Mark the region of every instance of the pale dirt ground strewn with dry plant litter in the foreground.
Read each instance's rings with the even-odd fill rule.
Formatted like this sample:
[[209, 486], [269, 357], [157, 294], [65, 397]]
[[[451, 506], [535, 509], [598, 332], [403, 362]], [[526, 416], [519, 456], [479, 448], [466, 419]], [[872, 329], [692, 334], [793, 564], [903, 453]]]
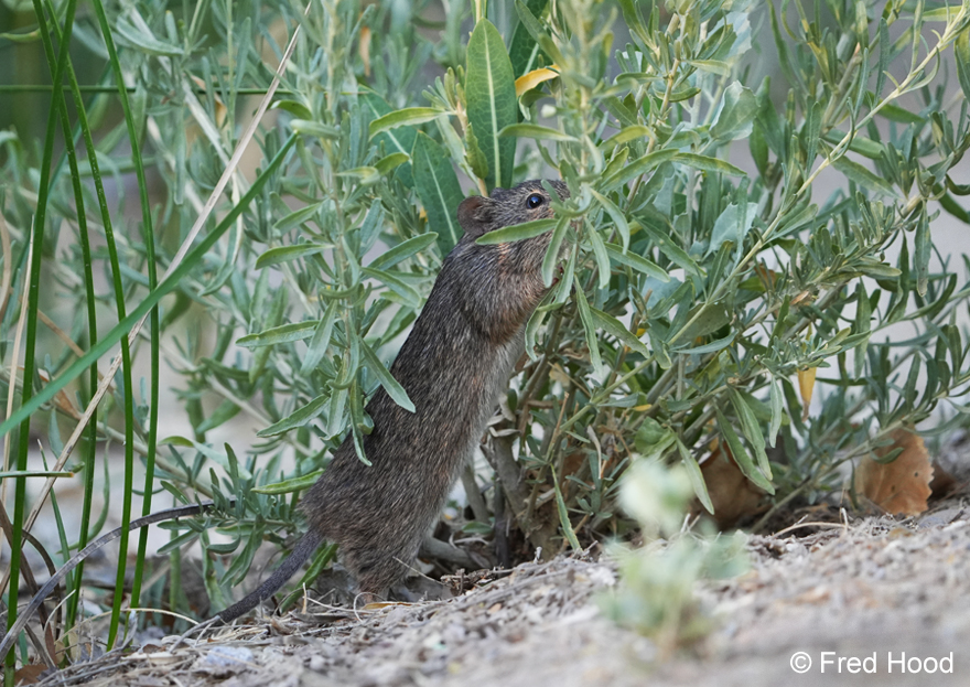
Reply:
[[747, 548], [747, 573], [698, 590], [714, 630], [672, 656], [601, 615], [596, 594], [619, 583], [602, 556], [526, 563], [448, 601], [356, 612], [308, 604], [202, 640], [151, 641], [44, 683], [970, 685], [970, 498], [918, 518], [753, 536]]

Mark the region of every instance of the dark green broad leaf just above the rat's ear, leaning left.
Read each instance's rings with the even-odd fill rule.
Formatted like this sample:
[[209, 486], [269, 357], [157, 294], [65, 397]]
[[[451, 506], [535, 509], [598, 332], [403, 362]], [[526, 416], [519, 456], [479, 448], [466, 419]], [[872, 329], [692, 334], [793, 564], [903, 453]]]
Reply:
[[459, 178], [444, 149], [423, 131], [414, 141], [411, 155], [412, 174], [418, 197], [428, 214], [428, 227], [438, 234], [441, 255], [448, 255], [462, 237], [456, 210], [464, 198]]

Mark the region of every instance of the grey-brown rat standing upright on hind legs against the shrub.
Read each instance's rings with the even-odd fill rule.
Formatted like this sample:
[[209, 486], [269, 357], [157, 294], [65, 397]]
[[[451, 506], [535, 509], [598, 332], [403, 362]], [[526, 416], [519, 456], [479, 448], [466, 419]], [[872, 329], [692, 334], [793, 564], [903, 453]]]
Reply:
[[[561, 198], [569, 191], [551, 181]], [[374, 431], [365, 465], [351, 437], [303, 498], [309, 530], [259, 589], [219, 618], [229, 622], [272, 595], [327, 539], [362, 592], [399, 582], [418, 555], [474, 451], [522, 353], [526, 322], [546, 294], [541, 266], [550, 235], [479, 246], [483, 234], [552, 216], [538, 180], [462, 201], [465, 234], [444, 259], [421, 315], [390, 368], [414, 404], [409, 412], [380, 388], [367, 404]]]

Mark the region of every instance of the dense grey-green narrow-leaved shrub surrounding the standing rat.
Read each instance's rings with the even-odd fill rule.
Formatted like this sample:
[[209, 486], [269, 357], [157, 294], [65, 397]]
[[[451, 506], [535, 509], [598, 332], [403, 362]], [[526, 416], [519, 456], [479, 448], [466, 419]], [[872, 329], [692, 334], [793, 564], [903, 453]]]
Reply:
[[[79, 529], [62, 528], [65, 556], [97, 534], [97, 448], [121, 440], [125, 522], [136, 476], [147, 494], [215, 500], [205, 523], [173, 526], [166, 551], [201, 540], [207, 589], [224, 602], [259, 544], [295, 530], [297, 494], [330, 452], [368, 431], [366, 399], [391, 384], [384, 365], [459, 237], [457, 202], [528, 178], [561, 176], [572, 191], [547, 229], [547, 283], [565, 246], [563, 275], [528, 325], [487, 465], [464, 477], [468, 529], [510, 523], [514, 559], [630, 527], [615, 487], [637, 457], [682, 463], [710, 509], [699, 459], [718, 440], [784, 504], [818, 498], [841, 463], [901, 427], [962, 422], [970, 372], [955, 318], [970, 290], [930, 226], [940, 208], [968, 221], [956, 196], [970, 189], [950, 175], [970, 147], [967, 105], [941, 76], [955, 71], [970, 93], [966, 2], [828, 0], [809, 12], [621, 0], [622, 17], [599, 0], [323, 0], [306, 14], [147, 0], [107, 12], [95, 2], [76, 19], [74, 8], [45, 6], [36, 33], [14, 36], [40, 39], [51, 72], [68, 77], [52, 79], [42, 149], [0, 135], [12, 287], [0, 328], [4, 342], [20, 340], [21, 319], [26, 332], [23, 375], [8, 344], [4, 380], [30, 380], [2, 426], [20, 427], [8, 434], [15, 469], [29, 468], [29, 417], [67, 458], [60, 427], [97, 386], [94, 363], [159, 309], [150, 334], [125, 344], [71, 459], [87, 500]], [[290, 55], [281, 36], [298, 26]], [[85, 100], [79, 61], [57, 62], [62, 32], [105, 64], [98, 83], [115, 93]], [[774, 85], [756, 77], [770, 45]], [[235, 168], [281, 60], [262, 158]], [[55, 139], [66, 146], [56, 163]], [[190, 227], [208, 217], [227, 168], [197, 238]], [[125, 192], [132, 170], [137, 202]], [[834, 191], [822, 200], [823, 180]], [[184, 260], [179, 246], [192, 247]], [[84, 356], [39, 339], [39, 312], [55, 301], [72, 305], [58, 331]], [[120, 324], [105, 333], [105, 320]], [[907, 339], [892, 340], [899, 323]], [[132, 355], [153, 371], [140, 386]], [[193, 436], [169, 437], [159, 419], [166, 367]], [[941, 400], [957, 412], [934, 415]], [[261, 441], [214, 444], [240, 415]], [[25, 480], [12, 507], [14, 598]], [[212, 525], [233, 541], [212, 544]], [[142, 540], [132, 605], [143, 554]]]

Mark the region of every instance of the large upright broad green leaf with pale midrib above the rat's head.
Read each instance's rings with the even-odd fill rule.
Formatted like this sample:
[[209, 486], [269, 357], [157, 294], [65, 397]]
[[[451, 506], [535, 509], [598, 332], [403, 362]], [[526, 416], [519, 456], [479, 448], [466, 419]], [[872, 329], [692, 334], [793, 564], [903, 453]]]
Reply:
[[518, 121], [515, 74], [502, 35], [487, 19], [481, 20], [472, 32], [465, 73], [468, 121], [475, 127], [475, 137], [488, 162], [485, 184], [489, 191], [509, 186], [516, 142], [513, 138], [499, 138], [498, 133]]

